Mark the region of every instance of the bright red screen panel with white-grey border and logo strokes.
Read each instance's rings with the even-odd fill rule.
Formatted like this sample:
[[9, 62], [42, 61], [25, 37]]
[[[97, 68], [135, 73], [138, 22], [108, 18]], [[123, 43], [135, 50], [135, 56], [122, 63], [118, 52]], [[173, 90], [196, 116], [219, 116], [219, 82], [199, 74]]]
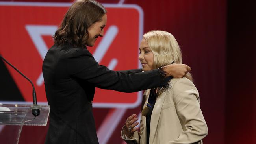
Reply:
[[[70, 4], [1, 3], [0, 53], [35, 84], [37, 100], [46, 102], [42, 63]], [[138, 45], [143, 32], [143, 11], [137, 5], [106, 4], [108, 22], [104, 37], [88, 47], [96, 61], [112, 70], [137, 69]], [[117, 18], [118, 17], [118, 18]], [[15, 70], [8, 70], [26, 101], [32, 101], [32, 87]], [[136, 107], [141, 92], [122, 93], [96, 89], [95, 107]]]

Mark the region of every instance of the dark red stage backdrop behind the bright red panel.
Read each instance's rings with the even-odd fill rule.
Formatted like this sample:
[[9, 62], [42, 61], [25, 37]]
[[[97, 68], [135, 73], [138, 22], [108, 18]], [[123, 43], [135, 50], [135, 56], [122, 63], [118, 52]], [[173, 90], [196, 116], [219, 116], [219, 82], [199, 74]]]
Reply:
[[[99, 2], [117, 4], [119, 0]], [[192, 67], [200, 92], [201, 109], [209, 130], [204, 143], [256, 143], [256, 18], [253, 16], [256, 5], [225, 0], [124, 0], [124, 4], [137, 4], [142, 8], [144, 32], [165, 30], [176, 37], [183, 62]], [[139, 113], [139, 109], [139, 106], [94, 108], [100, 142], [121, 144], [122, 125], [130, 114]], [[116, 121], [110, 125], [113, 116], [117, 116], [113, 119]], [[106, 129], [111, 132], [108, 137], [102, 135]], [[47, 127], [42, 126], [25, 126], [20, 143], [29, 144], [33, 139], [43, 144], [46, 130]]]

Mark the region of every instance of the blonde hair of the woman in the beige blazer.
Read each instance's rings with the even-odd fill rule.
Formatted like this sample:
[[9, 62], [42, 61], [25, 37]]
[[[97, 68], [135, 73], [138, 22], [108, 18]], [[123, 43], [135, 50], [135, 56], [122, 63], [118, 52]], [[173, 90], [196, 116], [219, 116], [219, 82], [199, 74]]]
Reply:
[[[146, 40], [154, 55], [153, 69], [171, 63], [182, 63], [182, 52], [175, 37], [167, 31], [153, 30], [145, 33], [143, 39]], [[193, 81], [190, 73], [186, 78]]]

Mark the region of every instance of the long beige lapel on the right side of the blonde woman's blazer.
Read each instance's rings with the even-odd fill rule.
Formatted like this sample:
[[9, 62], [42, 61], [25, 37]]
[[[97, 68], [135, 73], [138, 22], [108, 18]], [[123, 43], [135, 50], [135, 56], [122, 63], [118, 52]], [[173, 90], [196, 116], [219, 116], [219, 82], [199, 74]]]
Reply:
[[151, 115], [151, 122], [150, 122], [150, 136], [149, 136], [149, 143], [152, 144], [153, 140], [156, 137], [156, 129], [158, 126], [158, 120], [160, 118], [161, 109], [163, 106], [163, 102], [165, 101], [166, 93], [163, 92], [160, 96], [156, 98], [156, 103], [154, 105], [152, 115]]

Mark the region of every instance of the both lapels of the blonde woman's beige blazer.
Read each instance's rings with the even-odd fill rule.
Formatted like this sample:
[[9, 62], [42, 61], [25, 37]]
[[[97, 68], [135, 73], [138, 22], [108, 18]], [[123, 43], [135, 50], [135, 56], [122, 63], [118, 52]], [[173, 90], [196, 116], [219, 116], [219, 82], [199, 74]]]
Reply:
[[[148, 102], [148, 97], [150, 94], [150, 90], [148, 89], [145, 91], [145, 103], [144, 106], [146, 106], [147, 102]], [[168, 90], [167, 90], [168, 91]], [[154, 137], [156, 136], [156, 129], [158, 126], [158, 120], [160, 118], [160, 113], [161, 113], [161, 109], [163, 107], [163, 102], [165, 101], [165, 97], [167, 95], [167, 91], [163, 92], [160, 96], [156, 97], [156, 103], [154, 105], [153, 111], [152, 111], [152, 115], [151, 115], [151, 122], [150, 122], [150, 139], [149, 139], [149, 143], [152, 144]], [[142, 121], [146, 122], [146, 116], [141, 116]], [[144, 125], [146, 127], [146, 125]], [[144, 128], [143, 131], [145, 131], [146, 129]], [[146, 133], [146, 131], [144, 132]]]

